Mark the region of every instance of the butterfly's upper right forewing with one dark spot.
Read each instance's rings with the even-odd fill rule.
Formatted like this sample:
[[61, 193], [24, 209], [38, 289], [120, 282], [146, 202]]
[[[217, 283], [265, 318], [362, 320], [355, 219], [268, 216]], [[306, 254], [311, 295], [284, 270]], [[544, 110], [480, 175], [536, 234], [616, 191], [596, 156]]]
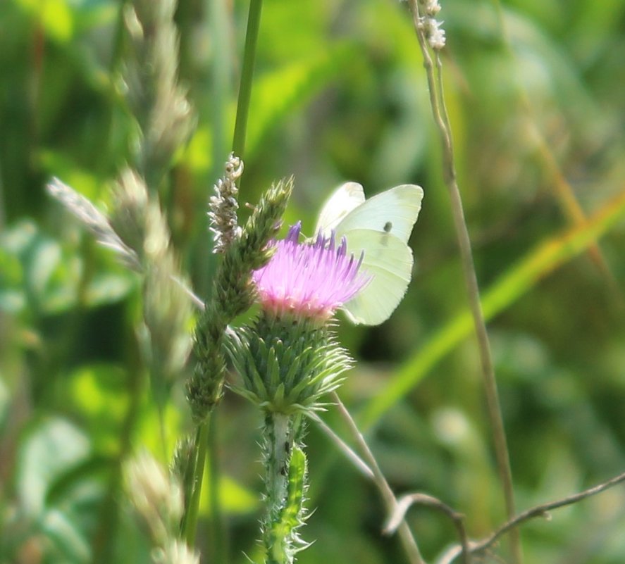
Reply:
[[[332, 202], [335, 196], [336, 194], [328, 203]], [[402, 184], [381, 192], [352, 208], [337, 225], [326, 227], [324, 223], [321, 223], [321, 219], [319, 223], [323, 225], [324, 230], [335, 228], [337, 237], [347, 235], [349, 239], [349, 232], [354, 230], [374, 230], [379, 233], [392, 234], [406, 244], [421, 211], [422, 199], [423, 189], [420, 186]]]

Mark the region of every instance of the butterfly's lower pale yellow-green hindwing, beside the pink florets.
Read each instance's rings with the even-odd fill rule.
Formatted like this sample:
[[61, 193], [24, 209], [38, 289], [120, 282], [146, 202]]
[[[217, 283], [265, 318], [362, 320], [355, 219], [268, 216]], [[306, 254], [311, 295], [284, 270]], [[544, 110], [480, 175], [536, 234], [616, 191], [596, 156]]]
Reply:
[[379, 325], [390, 317], [406, 293], [412, 275], [412, 251], [389, 233], [350, 231], [347, 251], [359, 256], [362, 250], [362, 269], [371, 275], [371, 282], [343, 309], [354, 323]]

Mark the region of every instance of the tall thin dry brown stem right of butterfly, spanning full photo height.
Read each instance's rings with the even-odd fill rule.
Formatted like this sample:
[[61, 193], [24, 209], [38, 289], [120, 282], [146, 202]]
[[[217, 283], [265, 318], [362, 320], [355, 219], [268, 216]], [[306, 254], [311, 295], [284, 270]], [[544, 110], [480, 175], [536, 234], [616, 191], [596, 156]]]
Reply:
[[[460, 190], [457, 182], [456, 168], [454, 164], [454, 146], [452, 142], [449, 118], [447, 117], [447, 108], [445, 107], [445, 95], [441, 73], [442, 64], [440, 56], [437, 52], [435, 55], [435, 77], [432, 57], [428, 49], [423, 27], [421, 25], [419, 0], [409, 0], [409, 6], [413, 16], [416, 37], [419, 41], [419, 47], [421, 48], [421, 52], [423, 54], [423, 66], [426, 69], [426, 75], [428, 77], [432, 113], [436, 127], [438, 128], [438, 132], [440, 134], [440, 141], [443, 146], [443, 177], [450, 193], [454, 227], [456, 230], [462, 260], [462, 272], [464, 274], [466, 291], [469, 296], [469, 306], [471, 308], [471, 315], [473, 316], [476, 337], [478, 339], [486, 401], [488, 403], [488, 418], [490, 419], [490, 425], [493, 430], [497, 470], [499, 472], [504, 490], [506, 513], [508, 518], [512, 518], [515, 513], [512, 470], [510, 469], [507, 440], [499, 402], [499, 395], [497, 394], [497, 382], [495, 381], [493, 357], [490, 352], [490, 342], [488, 340], [488, 332], [486, 331], [484, 315], [480, 302], [480, 292], [473, 261], [473, 253], [471, 251], [471, 239], [469, 238], [469, 231], [467, 230], [466, 221], [464, 220], [462, 198], [460, 196]], [[510, 546], [512, 549], [513, 562], [521, 564], [521, 541], [519, 531], [516, 529], [512, 529], [510, 531]]]

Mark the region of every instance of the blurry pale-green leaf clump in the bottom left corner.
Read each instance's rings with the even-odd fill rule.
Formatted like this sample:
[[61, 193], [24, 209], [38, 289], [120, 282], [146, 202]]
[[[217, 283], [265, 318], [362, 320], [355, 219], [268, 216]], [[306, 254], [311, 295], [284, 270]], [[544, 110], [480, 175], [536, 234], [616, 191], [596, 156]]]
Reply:
[[88, 532], [102, 495], [89, 449], [87, 435], [67, 420], [30, 422], [16, 452], [20, 510], [4, 524], [3, 559], [18, 560], [23, 543], [32, 539], [47, 562], [89, 561]]

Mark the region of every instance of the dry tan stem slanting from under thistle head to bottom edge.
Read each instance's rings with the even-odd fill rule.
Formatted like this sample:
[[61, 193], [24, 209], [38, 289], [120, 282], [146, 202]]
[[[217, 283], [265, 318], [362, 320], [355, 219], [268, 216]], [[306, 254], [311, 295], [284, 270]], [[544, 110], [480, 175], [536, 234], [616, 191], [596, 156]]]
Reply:
[[[369, 449], [369, 445], [366, 444], [366, 441], [357, 427], [354, 418], [352, 418], [352, 415], [349, 411], [347, 411], [345, 404], [341, 401], [339, 395], [335, 391], [332, 392], [332, 400], [336, 404], [341, 417], [347, 423], [349, 431], [352, 433], [354, 440], [357, 442], [366, 462], [369, 464], [369, 468], [371, 468], [371, 471], [373, 472], [372, 480], [378, 487], [378, 490], [380, 490], [380, 494], [388, 514], [392, 515], [395, 513], [395, 508], [397, 507], [397, 499], [395, 499], [395, 494], [393, 494], [392, 489], [390, 489], [390, 486], [382, 473], [382, 470], [380, 470], [376, 457], [373, 456], [373, 453], [371, 452], [371, 449]], [[410, 527], [408, 527], [405, 520], [402, 520], [401, 525], [397, 527], [397, 531], [399, 532], [400, 541], [402, 541], [402, 546], [404, 547], [404, 551], [406, 551], [409, 562], [411, 564], [424, 564], [425, 561], [423, 560], [423, 556], [421, 556], [419, 546], [417, 546], [416, 541], [412, 536]]]

